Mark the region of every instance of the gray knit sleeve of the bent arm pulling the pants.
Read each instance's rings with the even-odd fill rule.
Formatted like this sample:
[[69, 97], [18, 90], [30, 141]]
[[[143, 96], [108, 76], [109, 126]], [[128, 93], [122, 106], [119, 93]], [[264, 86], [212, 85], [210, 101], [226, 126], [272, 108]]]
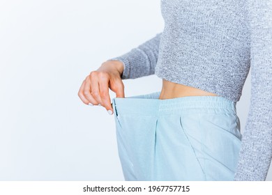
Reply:
[[121, 79], [135, 79], [155, 73], [161, 34], [157, 33], [151, 40], [147, 40], [122, 56], [109, 59], [123, 63], [124, 69]]

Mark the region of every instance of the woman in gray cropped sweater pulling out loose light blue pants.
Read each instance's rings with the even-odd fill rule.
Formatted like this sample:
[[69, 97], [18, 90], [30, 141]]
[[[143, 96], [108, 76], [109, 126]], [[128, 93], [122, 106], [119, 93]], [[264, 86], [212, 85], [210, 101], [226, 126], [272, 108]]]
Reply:
[[[126, 180], [265, 180], [272, 156], [271, 1], [162, 0], [161, 9], [163, 32], [103, 63], [78, 94], [114, 113]], [[241, 142], [236, 102], [250, 67]], [[154, 73], [162, 91], [125, 98], [121, 79]]]

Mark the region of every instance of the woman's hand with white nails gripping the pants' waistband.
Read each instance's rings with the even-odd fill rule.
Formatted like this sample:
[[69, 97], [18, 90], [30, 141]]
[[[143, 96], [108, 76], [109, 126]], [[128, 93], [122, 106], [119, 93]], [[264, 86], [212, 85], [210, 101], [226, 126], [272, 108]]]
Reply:
[[113, 109], [109, 97], [109, 88], [116, 93], [116, 98], [125, 98], [124, 85], [121, 79], [123, 63], [106, 61], [83, 81], [78, 96], [84, 104], [101, 105], [112, 115]]

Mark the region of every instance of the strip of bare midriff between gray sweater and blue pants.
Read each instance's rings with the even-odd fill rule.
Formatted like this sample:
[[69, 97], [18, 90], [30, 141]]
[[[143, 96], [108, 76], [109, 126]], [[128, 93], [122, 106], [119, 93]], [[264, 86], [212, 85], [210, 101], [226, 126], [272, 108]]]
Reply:
[[160, 92], [160, 97], [158, 99], [165, 100], [172, 98], [181, 98], [186, 96], [203, 96], [203, 95], [217, 96], [215, 93], [203, 91], [199, 88], [194, 88], [191, 86], [176, 84], [171, 81], [163, 79], [163, 88], [162, 91]]

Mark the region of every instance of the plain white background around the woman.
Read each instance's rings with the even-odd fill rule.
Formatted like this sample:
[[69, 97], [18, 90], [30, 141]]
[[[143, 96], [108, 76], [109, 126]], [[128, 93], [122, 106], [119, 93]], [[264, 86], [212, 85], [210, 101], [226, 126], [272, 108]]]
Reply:
[[[0, 180], [123, 180], [114, 116], [77, 92], [103, 61], [162, 30], [159, 0], [1, 0]], [[130, 96], [162, 81], [123, 82]], [[242, 132], [249, 101], [250, 75], [237, 104]]]

